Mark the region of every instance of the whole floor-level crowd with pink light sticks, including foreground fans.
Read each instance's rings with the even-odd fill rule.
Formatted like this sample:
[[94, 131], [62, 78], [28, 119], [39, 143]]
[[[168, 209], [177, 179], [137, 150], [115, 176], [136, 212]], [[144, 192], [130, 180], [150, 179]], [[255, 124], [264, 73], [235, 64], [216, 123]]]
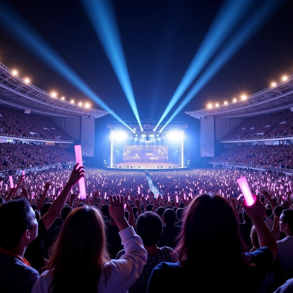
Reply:
[[[149, 192], [149, 176], [161, 196]], [[241, 176], [258, 194], [252, 206]], [[291, 178], [76, 165], [13, 180], [0, 197], [2, 292], [292, 292]]]

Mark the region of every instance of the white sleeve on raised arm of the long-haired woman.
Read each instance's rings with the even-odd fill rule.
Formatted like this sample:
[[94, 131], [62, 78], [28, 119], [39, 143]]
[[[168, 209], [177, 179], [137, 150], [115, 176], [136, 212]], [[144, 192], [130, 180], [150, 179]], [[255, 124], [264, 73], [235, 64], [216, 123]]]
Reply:
[[142, 273], [142, 269], [147, 263], [147, 251], [133, 227], [123, 229], [119, 235], [125, 254], [119, 260], [110, 260], [107, 265], [116, 272], [122, 288], [126, 292]]

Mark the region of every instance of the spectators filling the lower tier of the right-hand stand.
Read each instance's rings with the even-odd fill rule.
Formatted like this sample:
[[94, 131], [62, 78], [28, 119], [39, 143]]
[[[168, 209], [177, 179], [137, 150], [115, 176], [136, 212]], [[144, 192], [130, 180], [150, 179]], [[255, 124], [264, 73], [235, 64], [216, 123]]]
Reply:
[[212, 161], [292, 169], [292, 151], [293, 144], [241, 146], [229, 149]]

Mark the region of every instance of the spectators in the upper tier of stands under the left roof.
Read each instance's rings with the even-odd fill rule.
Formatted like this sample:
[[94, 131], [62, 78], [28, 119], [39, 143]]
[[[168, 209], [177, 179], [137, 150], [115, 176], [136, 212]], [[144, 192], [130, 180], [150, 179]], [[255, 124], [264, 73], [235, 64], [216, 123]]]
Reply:
[[0, 107], [0, 133], [53, 140], [74, 140], [52, 119]]

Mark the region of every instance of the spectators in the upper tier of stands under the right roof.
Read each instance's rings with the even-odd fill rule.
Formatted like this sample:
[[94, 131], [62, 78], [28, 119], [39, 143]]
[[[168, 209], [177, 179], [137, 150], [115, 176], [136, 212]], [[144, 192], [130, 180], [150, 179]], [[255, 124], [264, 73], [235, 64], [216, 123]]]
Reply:
[[244, 139], [293, 135], [293, 114], [277, 112], [244, 119], [222, 139]]

